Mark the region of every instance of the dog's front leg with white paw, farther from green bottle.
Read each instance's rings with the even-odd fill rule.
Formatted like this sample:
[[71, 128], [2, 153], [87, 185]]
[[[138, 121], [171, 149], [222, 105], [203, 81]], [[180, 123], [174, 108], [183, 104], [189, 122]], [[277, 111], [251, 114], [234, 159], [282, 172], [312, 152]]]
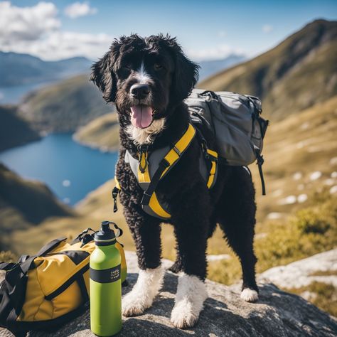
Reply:
[[187, 328], [198, 321], [203, 302], [208, 296], [204, 279], [210, 210], [207, 190], [200, 191], [200, 194], [198, 191], [188, 191], [179, 197], [181, 201], [175, 201], [179, 205], [176, 204], [171, 213], [182, 272], [178, 277], [171, 322], [177, 328]]

